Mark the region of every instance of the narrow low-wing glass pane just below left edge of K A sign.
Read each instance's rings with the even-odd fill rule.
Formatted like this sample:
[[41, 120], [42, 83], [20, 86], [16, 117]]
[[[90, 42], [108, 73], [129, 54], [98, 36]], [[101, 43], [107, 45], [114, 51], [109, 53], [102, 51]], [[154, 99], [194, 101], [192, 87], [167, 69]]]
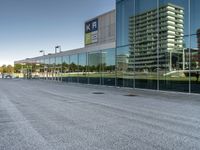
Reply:
[[88, 84], [87, 76], [87, 53], [78, 54], [78, 73], [79, 73], [79, 83]]

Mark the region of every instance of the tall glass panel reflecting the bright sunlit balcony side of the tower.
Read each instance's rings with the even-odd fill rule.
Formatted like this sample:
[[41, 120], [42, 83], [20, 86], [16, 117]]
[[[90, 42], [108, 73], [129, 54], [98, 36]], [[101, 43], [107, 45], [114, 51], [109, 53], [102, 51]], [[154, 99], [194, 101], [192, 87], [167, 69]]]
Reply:
[[159, 89], [189, 92], [189, 0], [159, 0]]

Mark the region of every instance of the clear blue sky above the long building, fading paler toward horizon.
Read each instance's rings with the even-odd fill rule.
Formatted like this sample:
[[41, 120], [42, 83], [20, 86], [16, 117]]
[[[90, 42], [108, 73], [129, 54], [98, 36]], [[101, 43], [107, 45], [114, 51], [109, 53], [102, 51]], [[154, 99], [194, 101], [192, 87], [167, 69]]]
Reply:
[[0, 0], [0, 65], [84, 46], [84, 22], [115, 0]]

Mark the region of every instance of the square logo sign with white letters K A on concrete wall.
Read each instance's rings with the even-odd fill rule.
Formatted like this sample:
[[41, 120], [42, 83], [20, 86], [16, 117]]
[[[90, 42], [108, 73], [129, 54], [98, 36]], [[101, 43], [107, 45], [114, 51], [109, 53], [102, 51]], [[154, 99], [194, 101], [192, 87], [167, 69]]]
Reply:
[[98, 42], [98, 19], [85, 23], [85, 45]]

